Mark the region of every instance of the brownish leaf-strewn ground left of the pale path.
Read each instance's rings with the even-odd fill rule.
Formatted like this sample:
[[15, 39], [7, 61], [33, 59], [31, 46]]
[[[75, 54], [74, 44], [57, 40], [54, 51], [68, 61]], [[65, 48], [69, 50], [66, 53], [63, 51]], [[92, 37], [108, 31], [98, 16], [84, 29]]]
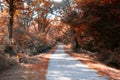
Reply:
[[56, 48], [36, 56], [25, 56], [26, 62], [18, 63], [0, 74], [0, 80], [45, 80], [49, 57]]

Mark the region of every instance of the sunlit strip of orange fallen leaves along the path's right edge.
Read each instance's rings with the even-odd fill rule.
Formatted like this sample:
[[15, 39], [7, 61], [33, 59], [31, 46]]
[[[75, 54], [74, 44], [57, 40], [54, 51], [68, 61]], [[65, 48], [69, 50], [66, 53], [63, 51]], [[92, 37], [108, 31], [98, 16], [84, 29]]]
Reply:
[[101, 76], [107, 75], [110, 80], [120, 80], [120, 70], [113, 67], [106, 66], [105, 64], [96, 61], [93, 57], [88, 54], [74, 53], [70, 50], [70, 45], [64, 47], [65, 51], [72, 57], [80, 60], [84, 64], [87, 64], [90, 68], [95, 69]]

